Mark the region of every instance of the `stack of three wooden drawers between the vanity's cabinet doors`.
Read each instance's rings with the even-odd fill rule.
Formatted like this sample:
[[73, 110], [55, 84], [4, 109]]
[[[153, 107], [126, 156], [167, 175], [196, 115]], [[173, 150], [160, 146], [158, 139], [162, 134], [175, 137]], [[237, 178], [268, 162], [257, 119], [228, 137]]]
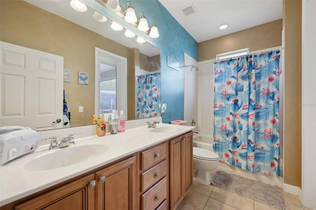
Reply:
[[168, 144], [138, 152], [139, 210], [167, 208]]

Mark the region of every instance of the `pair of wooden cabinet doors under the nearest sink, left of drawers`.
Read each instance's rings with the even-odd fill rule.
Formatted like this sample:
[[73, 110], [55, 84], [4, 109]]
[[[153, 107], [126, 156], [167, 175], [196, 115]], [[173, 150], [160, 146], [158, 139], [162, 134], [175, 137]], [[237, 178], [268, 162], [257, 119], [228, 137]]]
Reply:
[[136, 156], [132, 156], [30, 199], [15, 210], [136, 210], [136, 172]]

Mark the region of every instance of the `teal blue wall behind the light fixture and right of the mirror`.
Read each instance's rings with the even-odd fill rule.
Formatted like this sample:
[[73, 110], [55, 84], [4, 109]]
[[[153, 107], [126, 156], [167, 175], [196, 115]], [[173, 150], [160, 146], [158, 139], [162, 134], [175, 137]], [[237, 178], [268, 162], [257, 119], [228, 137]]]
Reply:
[[[134, 26], [126, 23], [117, 14], [108, 11], [94, 0], [81, 0], [91, 8], [98, 10], [112, 20], [117, 21], [124, 28], [157, 46], [161, 50], [161, 104], [167, 104], [162, 122], [184, 118], [184, 53], [197, 60], [197, 41], [174, 19], [158, 0], [130, 0], [136, 16], [144, 12], [148, 23], [154, 21], [158, 31], [158, 38], [151, 38]], [[125, 8], [127, 0], [119, 0]], [[167, 66], [167, 56], [174, 53], [180, 62], [180, 69], [174, 70]]]

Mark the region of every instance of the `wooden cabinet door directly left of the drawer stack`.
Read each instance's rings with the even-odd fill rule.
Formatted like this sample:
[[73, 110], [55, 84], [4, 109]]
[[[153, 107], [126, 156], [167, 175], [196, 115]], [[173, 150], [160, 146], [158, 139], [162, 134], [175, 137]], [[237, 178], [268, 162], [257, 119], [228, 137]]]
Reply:
[[136, 157], [95, 173], [98, 210], [136, 210]]

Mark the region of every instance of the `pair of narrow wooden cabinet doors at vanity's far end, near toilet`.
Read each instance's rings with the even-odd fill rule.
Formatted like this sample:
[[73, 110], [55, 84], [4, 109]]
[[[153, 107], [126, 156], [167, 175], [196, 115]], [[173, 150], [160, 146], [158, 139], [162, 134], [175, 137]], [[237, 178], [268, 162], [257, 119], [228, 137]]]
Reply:
[[175, 209], [193, 184], [192, 132], [170, 140], [170, 209]]

